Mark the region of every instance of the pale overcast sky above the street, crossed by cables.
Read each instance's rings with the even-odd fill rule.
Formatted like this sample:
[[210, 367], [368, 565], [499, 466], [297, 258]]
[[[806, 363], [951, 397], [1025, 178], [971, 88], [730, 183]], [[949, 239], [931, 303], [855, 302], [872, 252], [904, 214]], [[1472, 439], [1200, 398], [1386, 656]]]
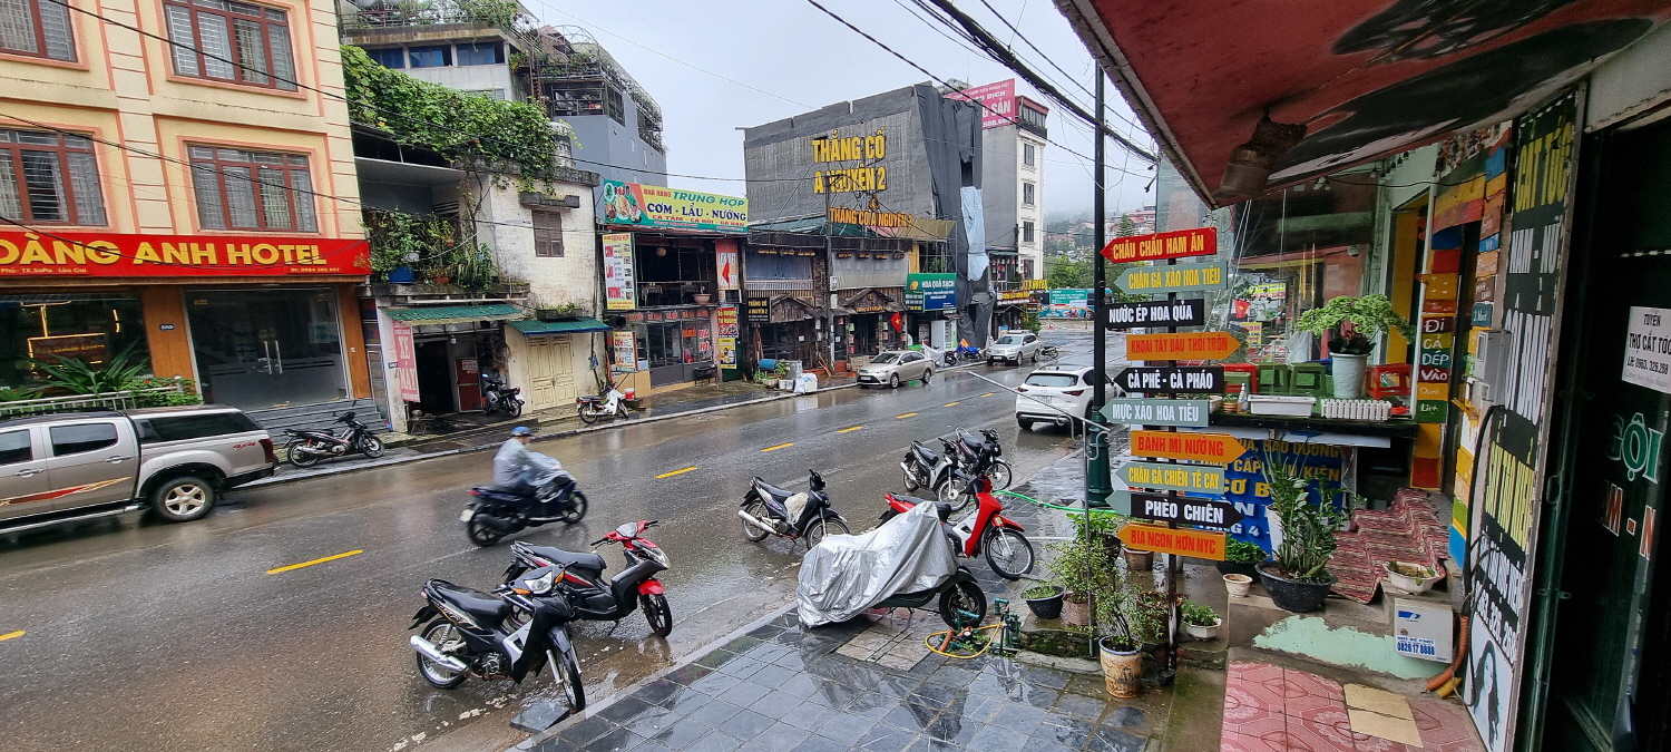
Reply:
[[[927, 13], [912, 0], [820, 2], [941, 79], [962, 79], [973, 85], [1018, 79], [1018, 92], [1051, 107], [1048, 125], [1054, 144], [1044, 150], [1044, 211], [1089, 212], [1089, 125], [1039, 97], [1033, 87], [966, 42], [949, 38], [951, 32], [937, 23], [931, 25]], [[1095, 80], [1091, 57], [1051, 0], [984, 0], [1003, 13], [1003, 20], [983, 0], [956, 2], [1001, 42], [1011, 43], [1023, 60], [1051, 79], [1059, 90], [1086, 110], [1091, 109], [1093, 97], [1086, 94], [1093, 90]], [[578, 25], [592, 32], [655, 97], [665, 117], [668, 172], [735, 179], [668, 177], [675, 187], [742, 196], [739, 127], [926, 82], [921, 72], [805, 0], [523, 0], [523, 5], [543, 23]], [[1014, 37], [1004, 20], [1019, 28], [1024, 38]], [[1058, 72], [1026, 40], [1071, 75]], [[1110, 122], [1128, 134], [1138, 132], [1120, 120], [1125, 117], [1136, 122], [1136, 117], [1113, 85], [1108, 87], [1108, 100]], [[1146, 135], [1135, 140], [1153, 147]], [[1108, 144], [1108, 211], [1153, 204], [1153, 189], [1145, 192], [1153, 175], [1148, 165], [1128, 157], [1113, 142]], [[1121, 167], [1130, 174], [1120, 172]]]

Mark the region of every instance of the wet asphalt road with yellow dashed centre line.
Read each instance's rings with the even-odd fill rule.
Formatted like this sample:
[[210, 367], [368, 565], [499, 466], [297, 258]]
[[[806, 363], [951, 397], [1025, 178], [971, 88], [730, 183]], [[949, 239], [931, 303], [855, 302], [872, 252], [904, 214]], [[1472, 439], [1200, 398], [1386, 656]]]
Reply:
[[[1083, 333], [1046, 339], [1064, 344], [1064, 364], [1088, 359]], [[670, 640], [650, 638], [637, 613], [578, 630], [588, 695], [603, 699], [792, 595], [799, 545], [740, 535], [735, 510], [750, 476], [805, 488], [807, 468], [817, 468], [834, 506], [862, 531], [881, 513], [881, 495], [901, 490], [897, 463], [911, 440], [996, 428], [1018, 480], [1068, 453], [1059, 428], [1018, 434], [1014, 398], [973, 376], [1013, 386], [1028, 371], [974, 366], [926, 388], [841, 389], [536, 443], [575, 473], [592, 510], [571, 528], [518, 538], [585, 550], [622, 521], [660, 520], [652, 538], [673, 563], [662, 575]], [[683, 468], [693, 470], [667, 475]], [[458, 523], [461, 491], [490, 478], [491, 455], [475, 453], [234, 491], [190, 525], [124, 515], [0, 535], [0, 635], [25, 632], [0, 642], [0, 747], [515, 742], [505, 722], [530, 695], [550, 692], [548, 675], [443, 692], [418, 677], [406, 647], [426, 578], [500, 582], [505, 545], [476, 548]], [[348, 551], [361, 553], [269, 573]], [[602, 553], [620, 568], [617, 550]]]

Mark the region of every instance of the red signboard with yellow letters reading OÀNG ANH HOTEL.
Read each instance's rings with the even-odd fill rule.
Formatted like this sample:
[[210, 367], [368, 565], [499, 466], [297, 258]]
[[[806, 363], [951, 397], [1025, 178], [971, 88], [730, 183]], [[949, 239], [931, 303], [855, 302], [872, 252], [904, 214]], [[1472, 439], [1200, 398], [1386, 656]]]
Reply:
[[247, 277], [371, 274], [359, 239], [0, 232], [0, 277]]

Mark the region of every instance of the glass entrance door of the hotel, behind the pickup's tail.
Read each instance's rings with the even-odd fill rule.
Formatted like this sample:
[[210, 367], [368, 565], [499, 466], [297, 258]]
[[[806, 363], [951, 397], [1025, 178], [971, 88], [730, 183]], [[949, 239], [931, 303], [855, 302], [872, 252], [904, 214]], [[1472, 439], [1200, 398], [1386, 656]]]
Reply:
[[204, 401], [266, 409], [348, 396], [334, 289], [187, 291], [185, 312]]

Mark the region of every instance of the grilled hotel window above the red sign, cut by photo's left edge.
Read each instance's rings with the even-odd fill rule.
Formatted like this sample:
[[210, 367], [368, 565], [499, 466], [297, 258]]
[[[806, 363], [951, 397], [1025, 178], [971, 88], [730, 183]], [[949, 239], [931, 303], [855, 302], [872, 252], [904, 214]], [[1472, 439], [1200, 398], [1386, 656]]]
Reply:
[[69, 134], [0, 130], [0, 217], [105, 224], [94, 142]]

